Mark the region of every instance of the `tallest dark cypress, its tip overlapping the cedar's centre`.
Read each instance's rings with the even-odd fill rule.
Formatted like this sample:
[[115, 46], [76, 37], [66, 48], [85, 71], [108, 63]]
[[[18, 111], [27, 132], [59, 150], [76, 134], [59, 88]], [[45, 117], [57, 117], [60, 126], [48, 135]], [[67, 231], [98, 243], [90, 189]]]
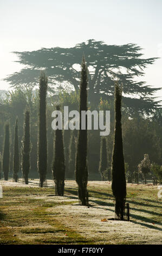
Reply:
[[87, 116], [86, 129], [81, 130], [81, 111], [87, 111], [87, 84], [88, 70], [85, 64], [85, 57], [81, 64], [81, 82], [80, 82], [80, 130], [77, 137], [75, 179], [78, 185], [78, 197], [82, 205], [88, 204], [87, 182], [88, 182], [88, 165], [87, 165]]

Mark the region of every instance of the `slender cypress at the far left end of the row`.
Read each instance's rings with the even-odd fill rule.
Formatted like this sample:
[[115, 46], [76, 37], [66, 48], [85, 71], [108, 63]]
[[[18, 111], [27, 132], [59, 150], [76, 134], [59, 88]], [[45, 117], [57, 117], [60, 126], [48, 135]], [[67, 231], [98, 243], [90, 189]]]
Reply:
[[10, 166], [10, 125], [9, 123], [4, 126], [4, 147], [3, 147], [3, 160], [2, 160], [2, 170], [4, 174], [4, 180], [9, 178], [9, 166]]

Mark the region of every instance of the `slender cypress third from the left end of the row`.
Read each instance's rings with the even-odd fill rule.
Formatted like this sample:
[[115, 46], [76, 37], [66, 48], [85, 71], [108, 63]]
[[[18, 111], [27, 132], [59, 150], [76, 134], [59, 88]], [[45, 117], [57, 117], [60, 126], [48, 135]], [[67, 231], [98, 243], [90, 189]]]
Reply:
[[25, 111], [24, 120], [24, 136], [23, 136], [23, 146], [22, 146], [22, 174], [25, 180], [25, 184], [28, 184], [28, 175], [30, 170], [30, 112]]

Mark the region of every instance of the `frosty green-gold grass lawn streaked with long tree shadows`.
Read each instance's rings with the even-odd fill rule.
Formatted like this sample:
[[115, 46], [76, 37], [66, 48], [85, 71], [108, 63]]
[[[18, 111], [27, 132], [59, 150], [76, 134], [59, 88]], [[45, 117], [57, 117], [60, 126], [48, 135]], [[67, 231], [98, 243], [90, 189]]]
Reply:
[[[113, 221], [111, 183], [89, 181], [89, 206], [77, 200], [75, 181], [66, 181], [63, 197], [54, 182], [38, 187], [1, 180], [0, 244], [161, 244], [161, 198], [157, 186], [127, 184], [131, 221]], [[102, 221], [106, 219], [105, 221]]]

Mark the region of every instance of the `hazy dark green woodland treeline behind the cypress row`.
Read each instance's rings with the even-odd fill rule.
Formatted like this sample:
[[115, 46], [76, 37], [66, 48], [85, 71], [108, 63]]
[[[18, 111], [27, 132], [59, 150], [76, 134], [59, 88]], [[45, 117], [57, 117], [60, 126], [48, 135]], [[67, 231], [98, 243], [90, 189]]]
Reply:
[[[14, 156], [14, 131], [15, 120], [18, 117], [18, 148], [22, 149], [23, 145], [23, 124], [25, 109], [30, 110], [30, 173], [29, 178], [38, 178], [37, 172], [37, 150], [38, 150], [38, 108], [39, 97], [38, 91], [32, 89], [15, 89], [13, 91], [0, 94], [0, 158], [3, 152], [4, 142], [4, 124], [10, 122], [10, 173], [13, 176], [13, 156]], [[79, 94], [77, 92], [67, 92], [61, 89], [58, 94], [52, 96], [47, 95], [47, 178], [52, 177], [52, 163], [54, 156], [54, 131], [51, 128], [51, 113], [55, 110], [55, 105], [60, 104], [62, 111], [63, 106], [69, 106], [69, 111], [79, 110]], [[114, 102], [112, 100], [102, 100], [100, 102], [88, 102], [88, 109], [94, 110], [110, 110], [111, 111], [111, 132], [106, 136], [107, 166], [104, 179], [111, 179], [111, 159], [113, 150], [113, 130], [114, 130]], [[135, 180], [138, 172], [138, 164], [144, 159], [144, 154], [148, 154], [151, 163], [162, 165], [162, 111], [157, 108], [152, 115], [141, 115], [132, 112], [122, 103], [122, 135], [124, 142], [124, 157], [127, 164], [126, 175], [131, 177], [131, 181]], [[76, 153], [76, 136], [77, 131], [63, 131], [64, 155], [66, 165], [66, 178], [74, 179], [75, 153]], [[89, 179], [101, 179], [99, 172], [100, 162], [100, 131], [88, 131], [88, 169]], [[102, 145], [102, 143], [101, 143]], [[101, 150], [102, 151], [102, 150]], [[105, 151], [105, 150], [103, 150]], [[22, 151], [20, 150], [20, 153]], [[1, 161], [0, 161], [1, 162]], [[20, 170], [22, 155], [20, 154]], [[0, 163], [1, 164], [1, 163]], [[1, 166], [0, 166], [1, 167]], [[148, 178], [152, 178], [153, 173], [149, 172]], [[21, 175], [19, 175], [21, 176]], [[140, 178], [140, 173], [139, 173]], [[142, 176], [141, 176], [142, 178]], [[102, 177], [103, 179], [103, 177]]]

